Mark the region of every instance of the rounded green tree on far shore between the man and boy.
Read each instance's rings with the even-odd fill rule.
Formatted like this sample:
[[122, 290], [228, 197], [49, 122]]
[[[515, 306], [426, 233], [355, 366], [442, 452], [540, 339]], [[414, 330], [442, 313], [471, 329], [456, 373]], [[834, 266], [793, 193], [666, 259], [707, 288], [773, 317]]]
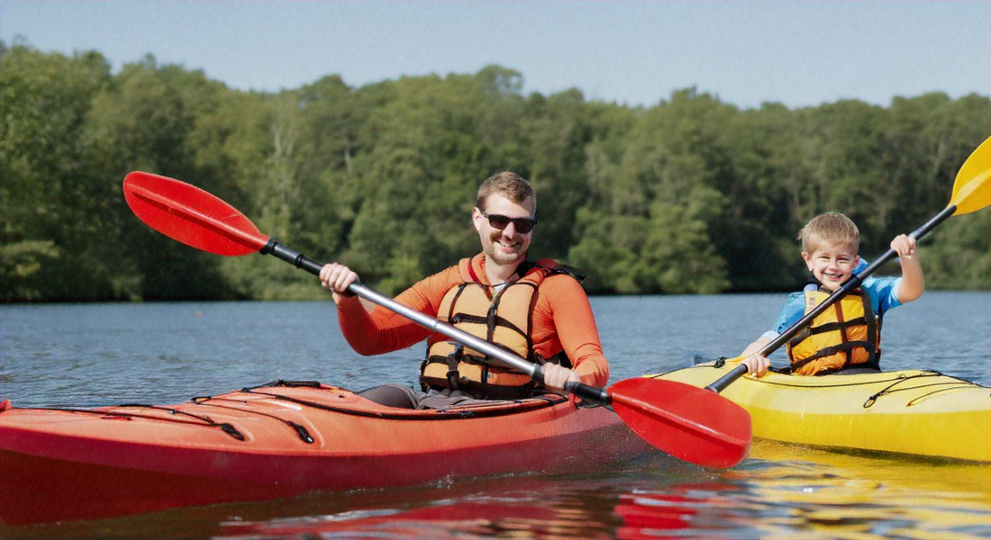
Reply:
[[[708, 94], [685, 90], [637, 120], [620, 161], [606, 166], [611, 181], [593, 197], [603, 210], [580, 215], [581, 240], [569, 253], [576, 265], [601, 266], [598, 247], [612, 247], [621, 264], [608, 265], [607, 277], [588, 268], [598, 278], [591, 283], [617, 292], [728, 287], [710, 231], [727, 203], [720, 187], [728, 181], [729, 163], [719, 133], [733, 111]], [[607, 225], [592, 223], [597, 220]]]

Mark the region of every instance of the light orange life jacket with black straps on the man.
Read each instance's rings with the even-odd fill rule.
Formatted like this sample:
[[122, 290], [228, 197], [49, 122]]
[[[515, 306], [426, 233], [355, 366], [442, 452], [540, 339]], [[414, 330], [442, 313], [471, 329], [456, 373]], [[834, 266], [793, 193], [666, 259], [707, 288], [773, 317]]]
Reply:
[[[542, 260], [493, 294], [490, 286], [473, 275], [471, 261], [464, 259], [459, 263], [464, 282], [444, 295], [437, 318], [529, 362], [554, 362], [571, 367], [563, 351], [550, 359], [541, 358], [533, 351], [532, 319], [540, 283], [545, 277], [552, 273], [580, 276], [569, 267]], [[427, 340], [426, 360], [420, 366], [420, 384], [424, 390], [458, 388], [489, 399], [517, 399], [532, 394], [536, 383], [530, 376], [490, 365], [485, 362], [490, 359], [487, 355], [446, 339], [442, 334], [433, 334]]]

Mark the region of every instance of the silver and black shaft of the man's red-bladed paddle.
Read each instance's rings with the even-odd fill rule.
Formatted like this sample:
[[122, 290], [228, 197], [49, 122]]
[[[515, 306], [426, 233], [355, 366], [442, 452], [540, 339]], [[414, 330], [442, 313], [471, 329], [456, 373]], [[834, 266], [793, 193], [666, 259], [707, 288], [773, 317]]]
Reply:
[[[275, 258], [281, 259], [282, 261], [285, 261], [298, 269], [306, 270], [313, 275], [320, 275], [320, 270], [323, 269], [323, 265], [320, 263], [307, 258], [299, 252], [280, 246], [277, 242], [275, 242], [275, 240], [270, 239], [268, 244], [260, 250], [260, 253], [262, 255], [275, 256]], [[445, 336], [467, 345], [476, 351], [485, 353], [487, 356], [495, 359], [506, 368], [524, 373], [538, 382], [542, 383], [544, 381], [544, 372], [540, 369], [539, 365], [532, 362], [527, 362], [505, 349], [496, 347], [492, 343], [477, 336], [473, 336], [463, 330], [459, 330], [444, 321], [402, 305], [392, 298], [372, 290], [362, 283], [351, 283], [348, 285], [348, 292], [357, 294], [370, 302], [394, 311], [415, 322], [416, 324], [427, 328], [428, 330], [444, 334]], [[592, 401], [601, 405], [608, 405], [611, 402], [611, 397], [605, 389], [590, 386], [582, 382], [569, 381], [565, 383], [565, 389], [581, 397], [582, 399], [585, 399], [586, 401]]]

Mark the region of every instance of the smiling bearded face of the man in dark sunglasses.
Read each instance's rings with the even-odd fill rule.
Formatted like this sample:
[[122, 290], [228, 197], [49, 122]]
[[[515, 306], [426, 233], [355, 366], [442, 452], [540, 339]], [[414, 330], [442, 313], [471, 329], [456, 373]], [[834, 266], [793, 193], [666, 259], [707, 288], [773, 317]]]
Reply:
[[485, 215], [479, 208], [472, 210], [472, 221], [475, 230], [479, 232], [482, 252], [486, 257], [496, 265], [519, 263], [526, 258], [526, 251], [530, 248], [530, 238], [533, 236], [532, 230], [520, 233], [516, 230], [516, 224], [512, 222], [504, 229], [498, 229], [493, 226], [487, 215], [532, 220], [533, 214], [533, 199], [526, 199], [521, 204], [516, 204], [498, 193], [493, 193], [486, 199]]

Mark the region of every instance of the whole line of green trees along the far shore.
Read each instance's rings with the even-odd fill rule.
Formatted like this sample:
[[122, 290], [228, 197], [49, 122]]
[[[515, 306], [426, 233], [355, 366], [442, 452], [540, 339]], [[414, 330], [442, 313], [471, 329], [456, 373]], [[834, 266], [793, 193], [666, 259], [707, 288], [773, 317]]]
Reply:
[[[740, 110], [693, 88], [649, 108], [521, 88], [492, 65], [244, 92], [152, 56], [114, 74], [95, 52], [0, 44], [2, 299], [324, 297], [271, 258], [152, 231], [124, 202], [131, 170], [215, 193], [384, 292], [477, 253], [475, 190], [503, 169], [538, 191], [532, 253], [585, 270], [592, 292], [791, 289], [809, 218], [846, 213], [877, 256], [946, 205], [991, 133], [980, 95]], [[987, 210], [947, 220], [924, 243], [927, 284], [989, 288], [989, 244]]]

